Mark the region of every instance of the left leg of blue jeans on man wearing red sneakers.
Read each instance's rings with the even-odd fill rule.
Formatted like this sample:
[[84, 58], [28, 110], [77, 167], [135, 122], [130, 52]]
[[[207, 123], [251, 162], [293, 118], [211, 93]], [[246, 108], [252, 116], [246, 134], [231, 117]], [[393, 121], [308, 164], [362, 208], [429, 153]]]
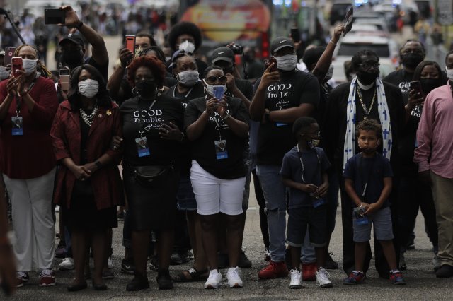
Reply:
[[256, 175], [266, 201], [270, 259], [285, 261], [287, 193], [280, 176], [280, 165], [257, 165]]

